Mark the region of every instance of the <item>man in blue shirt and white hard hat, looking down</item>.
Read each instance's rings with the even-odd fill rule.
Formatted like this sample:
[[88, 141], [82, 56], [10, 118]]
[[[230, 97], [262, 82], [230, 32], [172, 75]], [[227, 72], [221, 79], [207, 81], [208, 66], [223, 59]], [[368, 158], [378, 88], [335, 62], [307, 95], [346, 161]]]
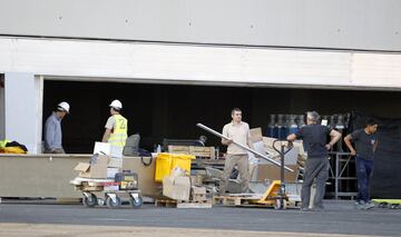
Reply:
[[62, 148], [61, 119], [69, 113], [68, 102], [57, 105], [45, 124], [45, 154], [65, 154]]

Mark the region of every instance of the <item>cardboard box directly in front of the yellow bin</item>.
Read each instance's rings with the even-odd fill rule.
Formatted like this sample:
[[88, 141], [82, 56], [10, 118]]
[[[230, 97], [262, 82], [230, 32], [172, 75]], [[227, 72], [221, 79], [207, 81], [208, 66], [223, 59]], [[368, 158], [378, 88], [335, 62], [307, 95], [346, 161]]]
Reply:
[[163, 179], [163, 195], [175, 200], [189, 200], [189, 177], [176, 177], [174, 181], [169, 177]]

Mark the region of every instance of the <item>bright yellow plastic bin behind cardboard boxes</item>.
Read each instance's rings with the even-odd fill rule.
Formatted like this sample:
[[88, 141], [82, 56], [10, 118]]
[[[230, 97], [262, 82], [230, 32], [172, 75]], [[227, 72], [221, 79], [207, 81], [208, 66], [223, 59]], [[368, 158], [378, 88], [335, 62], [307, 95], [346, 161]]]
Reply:
[[190, 174], [190, 160], [195, 156], [185, 154], [158, 154], [156, 157], [155, 181], [163, 181], [165, 176], [169, 176], [172, 169], [178, 166]]

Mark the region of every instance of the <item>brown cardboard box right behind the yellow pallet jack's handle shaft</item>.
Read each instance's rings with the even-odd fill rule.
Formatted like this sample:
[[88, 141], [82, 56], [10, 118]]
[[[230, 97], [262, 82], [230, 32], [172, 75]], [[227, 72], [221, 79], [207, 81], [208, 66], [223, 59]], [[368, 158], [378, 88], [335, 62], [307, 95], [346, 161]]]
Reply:
[[[284, 170], [284, 178], [286, 182], [295, 182], [299, 176], [299, 165], [286, 165], [286, 167], [293, 169], [294, 171]], [[280, 180], [281, 179], [281, 168], [272, 164], [260, 164], [257, 165], [257, 181], [264, 181], [265, 179]]]

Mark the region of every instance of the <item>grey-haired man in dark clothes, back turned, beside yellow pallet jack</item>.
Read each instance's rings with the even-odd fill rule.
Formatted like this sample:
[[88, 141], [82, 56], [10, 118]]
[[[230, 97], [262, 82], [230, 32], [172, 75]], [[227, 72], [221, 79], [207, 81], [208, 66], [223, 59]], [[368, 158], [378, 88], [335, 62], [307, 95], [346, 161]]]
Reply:
[[[287, 140], [302, 139], [307, 151], [305, 171], [302, 182], [301, 210], [310, 210], [311, 187], [316, 178], [316, 195], [313, 200], [313, 210], [323, 210], [323, 197], [325, 182], [329, 178], [329, 150], [341, 138], [341, 134], [326, 126], [317, 125], [319, 113], [311, 111], [306, 113], [306, 126], [300, 128], [296, 134], [288, 135]], [[327, 137], [331, 137], [327, 142]]]

